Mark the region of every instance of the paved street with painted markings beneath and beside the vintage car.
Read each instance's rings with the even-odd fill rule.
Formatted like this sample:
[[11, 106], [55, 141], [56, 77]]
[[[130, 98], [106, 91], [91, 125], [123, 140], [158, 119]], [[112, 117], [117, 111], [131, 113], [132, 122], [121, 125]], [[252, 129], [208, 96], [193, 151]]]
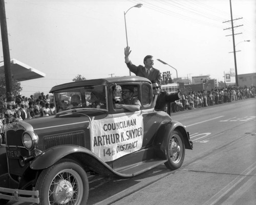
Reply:
[[[88, 204], [255, 204], [256, 99], [173, 113], [194, 150], [130, 179], [91, 178]], [[11, 202], [8, 204], [28, 204]]]

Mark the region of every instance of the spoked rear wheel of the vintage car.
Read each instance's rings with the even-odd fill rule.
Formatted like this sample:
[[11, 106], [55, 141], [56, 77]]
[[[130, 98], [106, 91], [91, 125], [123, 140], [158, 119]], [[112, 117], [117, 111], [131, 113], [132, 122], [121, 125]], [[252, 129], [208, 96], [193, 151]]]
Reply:
[[172, 131], [167, 144], [167, 162], [164, 165], [171, 170], [179, 169], [185, 157], [185, 144], [179, 131]]

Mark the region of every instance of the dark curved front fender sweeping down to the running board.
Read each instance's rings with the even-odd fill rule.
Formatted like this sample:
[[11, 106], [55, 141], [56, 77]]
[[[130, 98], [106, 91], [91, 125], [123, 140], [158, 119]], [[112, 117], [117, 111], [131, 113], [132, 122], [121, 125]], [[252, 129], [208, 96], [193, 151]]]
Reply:
[[129, 177], [129, 175], [120, 174], [113, 170], [89, 149], [76, 145], [52, 147], [38, 155], [35, 160], [31, 162], [30, 168], [33, 170], [47, 169], [57, 163], [61, 158], [72, 158], [83, 167], [89, 167], [91, 171], [95, 171], [99, 174]]

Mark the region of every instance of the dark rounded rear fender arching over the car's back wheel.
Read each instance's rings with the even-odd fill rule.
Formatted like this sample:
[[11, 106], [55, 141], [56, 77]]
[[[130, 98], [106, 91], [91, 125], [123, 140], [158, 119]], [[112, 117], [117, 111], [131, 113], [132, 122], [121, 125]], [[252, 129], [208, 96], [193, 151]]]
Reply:
[[173, 130], [178, 130], [181, 132], [185, 144], [185, 149], [193, 149], [189, 141], [189, 134], [186, 131], [186, 128], [177, 121], [168, 121], [163, 123], [158, 131], [154, 141], [155, 154], [158, 157], [165, 158], [167, 154], [167, 144], [168, 136]]

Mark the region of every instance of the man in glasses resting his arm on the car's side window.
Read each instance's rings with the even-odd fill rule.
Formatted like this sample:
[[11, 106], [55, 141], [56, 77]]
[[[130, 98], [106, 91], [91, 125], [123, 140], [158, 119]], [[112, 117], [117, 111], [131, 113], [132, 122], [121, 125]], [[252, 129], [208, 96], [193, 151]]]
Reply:
[[114, 104], [114, 107], [116, 109], [127, 109], [129, 111], [135, 112], [140, 110], [141, 103], [138, 98], [133, 97], [134, 94], [134, 86], [131, 85], [124, 85], [122, 86], [122, 100], [119, 102], [119, 104]]

